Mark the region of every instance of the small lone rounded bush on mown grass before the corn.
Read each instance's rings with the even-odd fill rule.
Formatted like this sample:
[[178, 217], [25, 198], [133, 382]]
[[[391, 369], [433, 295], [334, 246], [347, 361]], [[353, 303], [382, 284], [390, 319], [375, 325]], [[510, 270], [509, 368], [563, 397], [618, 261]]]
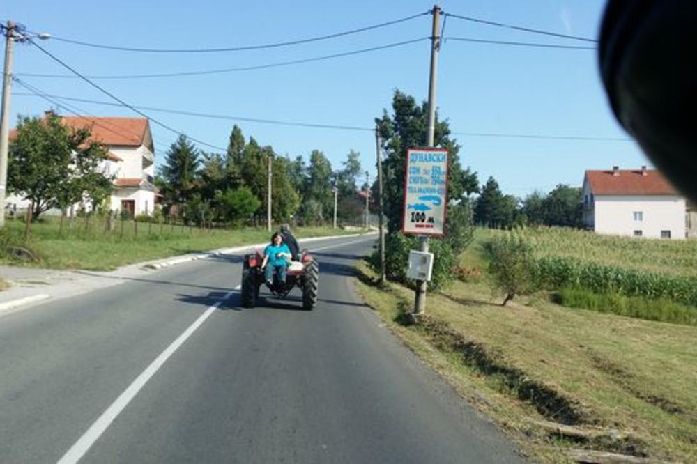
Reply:
[[533, 249], [516, 231], [498, 235], [484, 248], [489, 255], [491, 285], [504, 295], [503, 306], [515, 295], [535, 289]]

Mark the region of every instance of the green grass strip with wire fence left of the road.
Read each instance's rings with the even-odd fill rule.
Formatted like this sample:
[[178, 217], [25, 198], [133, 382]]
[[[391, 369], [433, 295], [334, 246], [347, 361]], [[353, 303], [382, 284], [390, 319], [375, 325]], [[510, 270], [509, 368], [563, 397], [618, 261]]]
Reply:
[[[24, 223], [8, 221], [6, 233], [19, 240], [24, 232]], [[167, 258], [191, 252], [206, 252], [210, 249], [235, 247], [269, 240], [266, 229], [197, 229], [181, 225], [139, 223], [137, 235], [135, 224], [125, 222], [123, 235], [121, 224], [115, 222], [115, 230], [105, 233], [105, 225], [94, 224], [89, 233], [84, 233], [77, 224], [73, 229], [64, 229], [59, 236], [59, 224], [48, 219], [31, 226], [31, 236], [24, 246], [31, 249], [36, 260], [21, 261], [6, 252], [0, 263], [26, 265], [53, 269], [113, 270], [121, 265]], [[298, 239], [323, 235], [345, 235], [356, 231], [326, 227], [300, 227], [293, 231]]]

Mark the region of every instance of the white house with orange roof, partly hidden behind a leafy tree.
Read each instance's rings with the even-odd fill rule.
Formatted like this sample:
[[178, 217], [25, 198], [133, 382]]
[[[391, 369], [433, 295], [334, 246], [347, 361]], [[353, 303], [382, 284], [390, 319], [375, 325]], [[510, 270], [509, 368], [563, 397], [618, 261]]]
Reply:
[[[134, 216], [151, 214], [160, 194], [153, 185], [155, 147], [148, 119], [61, 116], [61, 121], [70, 127], [89, 127], [93, 139], [107, 148], [102, 171], [114, 178], [109, 208]], [[8, 198], [8, 203], [26, 208], [26, 201], [16, 197]]]

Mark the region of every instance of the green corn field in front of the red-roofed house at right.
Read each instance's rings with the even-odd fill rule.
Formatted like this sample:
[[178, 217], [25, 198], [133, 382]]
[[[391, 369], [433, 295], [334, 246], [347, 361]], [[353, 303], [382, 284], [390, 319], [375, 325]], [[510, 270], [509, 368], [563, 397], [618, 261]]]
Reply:
[[637, 240], [549, 227], [515, 233], [533, 250], [530, 277], [541, 288], [575, 286], [697, 307], [697, 240]]

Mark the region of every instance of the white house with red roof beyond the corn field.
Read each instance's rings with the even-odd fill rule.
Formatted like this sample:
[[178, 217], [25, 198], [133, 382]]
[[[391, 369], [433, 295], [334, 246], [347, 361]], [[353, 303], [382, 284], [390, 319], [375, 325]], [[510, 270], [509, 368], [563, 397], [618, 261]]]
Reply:
[[655, 169], [585, 171], [583, 222], [597, 233], [685, 238], [685, 200]]

